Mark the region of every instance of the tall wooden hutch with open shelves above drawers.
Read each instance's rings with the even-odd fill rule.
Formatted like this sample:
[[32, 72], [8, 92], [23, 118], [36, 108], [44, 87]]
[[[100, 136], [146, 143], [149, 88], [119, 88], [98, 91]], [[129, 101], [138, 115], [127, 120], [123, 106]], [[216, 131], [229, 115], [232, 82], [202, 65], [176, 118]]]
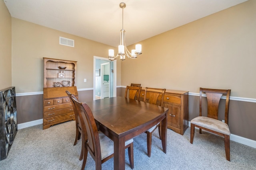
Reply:
[[76, 61], [44, 58], [43, 129], [75, 120], [73, 106], [66, 90], [78, 96]]

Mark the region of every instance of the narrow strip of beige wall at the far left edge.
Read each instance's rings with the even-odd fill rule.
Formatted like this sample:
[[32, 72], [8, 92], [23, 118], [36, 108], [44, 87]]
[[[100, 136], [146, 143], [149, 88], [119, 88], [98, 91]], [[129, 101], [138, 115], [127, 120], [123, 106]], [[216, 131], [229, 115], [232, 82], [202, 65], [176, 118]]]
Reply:
[[12, 22], [0, 0], [0, 90], [12, 86]]

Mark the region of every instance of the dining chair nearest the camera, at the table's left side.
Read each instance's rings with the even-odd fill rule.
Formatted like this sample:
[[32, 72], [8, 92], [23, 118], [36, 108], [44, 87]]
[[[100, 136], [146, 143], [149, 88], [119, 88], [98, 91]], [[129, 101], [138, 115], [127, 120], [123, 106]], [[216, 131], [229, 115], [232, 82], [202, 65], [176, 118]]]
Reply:
[[[114, 156], [114, 142], [98, 131], [94, 116], [90, 107], [79, 102], [74, 95], [71, 95], [82, 125], [82, 136], [84, 137], [84, 160], [81, 170], [84, 170], [88, 152], [95, 161], [96, 170], [101, 170], [102, 163]], [[133, 158], [133, 139], [125, 142], [125, 148], [128, 148], [128, 156], [131, 169], [134, 168]]]

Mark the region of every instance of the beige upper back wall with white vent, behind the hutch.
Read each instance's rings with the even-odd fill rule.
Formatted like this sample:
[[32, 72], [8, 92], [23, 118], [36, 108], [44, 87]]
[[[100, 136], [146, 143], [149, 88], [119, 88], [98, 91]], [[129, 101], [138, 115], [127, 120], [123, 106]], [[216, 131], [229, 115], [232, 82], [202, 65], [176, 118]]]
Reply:
[[[59, 37], [74, 39], [74, 47], [60, 45]], [[16, 93], [42, 92], [43, 57], [47, 57], [77, 61], [77, 88], [92, 88], [94, 56], [108, 57], [110, 47], [12, 18], [12, 86], [16, 86]], [[117, 62], [117, 85], [121, 84], [120, 63]], [[86, 83], [84, 78], [87, 79]]]

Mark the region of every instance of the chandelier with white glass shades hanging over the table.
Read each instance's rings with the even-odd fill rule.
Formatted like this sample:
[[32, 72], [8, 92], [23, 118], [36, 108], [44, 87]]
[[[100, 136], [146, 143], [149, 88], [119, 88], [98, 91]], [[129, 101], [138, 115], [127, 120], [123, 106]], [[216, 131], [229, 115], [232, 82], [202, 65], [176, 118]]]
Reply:
[[121, 37], [120, 37], [120, 45], [118, 45], [118, 53], [116, 56], [114, 56], [114, 50], [109, 49], [108, 50], [108, 59], [110, 61], [114, 61], [117, 59], [118, 56], [120, 56], [120, 60], [125, 60], [125, 57], [127, 56], [130, 59], [136, 59], [137, 55], [141, 55], [141, 45], [136, 44], [135, 49], [132, 49], [132, 53], [127, 49], [125, 44], [125, 30], [124, 30], [124, 8], [126, 7], [126, 4], [124, 2], [121, 2], [119, 4], [120, 8], [122, 8], [122, 29], [121, 29]]

